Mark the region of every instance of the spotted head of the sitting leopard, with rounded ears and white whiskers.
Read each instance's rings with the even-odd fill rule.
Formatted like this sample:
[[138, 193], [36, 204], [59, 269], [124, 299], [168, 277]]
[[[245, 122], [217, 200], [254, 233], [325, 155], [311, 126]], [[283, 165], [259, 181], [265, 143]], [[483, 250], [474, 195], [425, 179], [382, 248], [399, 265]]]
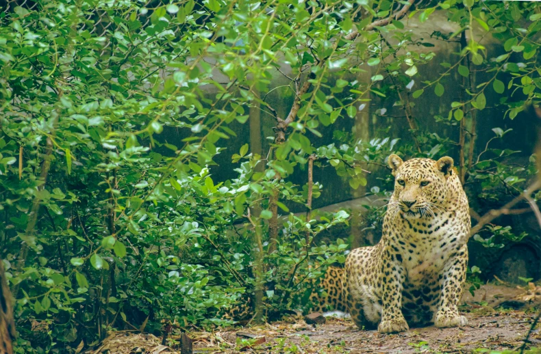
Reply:
[[449, 193], [447, 178], [453, 173], [453, 159], [444, 156], [432, 159], [402, 159], [392, 154], [388, 164], [394, 176], [394, 193], [391, 199], [397, 213], [408, 218], [429, 219], [445, 209]]

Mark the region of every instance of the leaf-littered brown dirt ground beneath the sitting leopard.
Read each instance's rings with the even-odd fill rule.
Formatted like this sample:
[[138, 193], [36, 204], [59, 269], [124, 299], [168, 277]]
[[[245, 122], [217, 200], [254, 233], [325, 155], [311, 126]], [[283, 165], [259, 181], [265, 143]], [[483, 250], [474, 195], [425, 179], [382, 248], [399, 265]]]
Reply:
[[[541, 303], [541, 287], [525, 289], [487, 284], [466, 294], [460, 310], [468, 325], [460, 328], [412, 328], [392, 335], [357, 329], [349, 319], [327, 317], [308, 325], [303, 316], [262, 326], [230, 327], [213, 332], [189, 331], [193, 353], [519, 353]], [[514, 307], [503, 309], [501, 305]], [[518, 309], [518, 310], [517, 310]], [[528, 353], [541, 353], [541, 326], [529, 334]], [[189, 353], [179, 336], [162, 338], [134, 331], [114, 332], [96, 350], [86, 353]], [[526, 352], [525, 352], [526, 353]]]

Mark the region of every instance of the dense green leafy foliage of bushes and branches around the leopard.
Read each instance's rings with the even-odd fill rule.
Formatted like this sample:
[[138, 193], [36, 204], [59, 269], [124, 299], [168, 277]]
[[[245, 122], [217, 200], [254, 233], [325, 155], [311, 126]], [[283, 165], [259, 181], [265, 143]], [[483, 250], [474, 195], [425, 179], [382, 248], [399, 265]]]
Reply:
[[[386, 132], [365, 141], [339, 129], [323, 144], [325, 131], [368, 110], [370, 100], [414, 119], [418, 100], [451, 92], [451, 74], [472, 84], [446, 117], [436, 115], [438, 124], [475, 129], [476, 111], [497, 107], [514, 119], [538, 104], [536, 3], [446, 0], [410, 9], [420, 23], [444, 10], [457, 27], [432, 38], [468, 33], [453, 64], [442, 60], [441, 72], [422, 83], [415, 81], [436, 57], [434, 44], [392, 16], [404, 5], [47, 0], [3, 8], [0, 256], [16, 299], [18, 353], [73, 353], [109, 329], [144, 323], [160, 331], [169, 319], [225, 325], [219, 309], [263, 289], [270, 312], [300, 308], [312, 280], [347, 250], [314, 238], [350, 216], [290, 213], [323, 190], [290, 176], [313, 159], [358, 189], [390, 151], [432, 158], [457, 144], [415, 124], [401, 144]], [[489, 33], [503, 50], [495, 57], [481, 44]], [[290, 83], [271, 87], [284, 65]], [[368, 70], [371, 79], [355, 79]], [[488, 74], [483, 82], [472, 80], [479, 71]], [[501, 98], [487, 102], [487, 87]], [[265, 100], [271, 90], [295, 92], [285, 116]], [[218, 180], [215, 159], [250, 109], [277, 122], [271, 151], [265, 157], [242, 145], [232, 154], [236, 176]], [[494, 141], [508, 132], [493, 131]], [[171, 132], [179, 138], [168, 139]], [[470, 196], [493, 206], [520, 193], [535, 161], [516, 166], [507, 159], [514, 153], [490, 144], [475, 159], [466, 152], [471, 163], [459, 167], [479, 182]], [[375, 193], [388, 195], [386, 178]], [[478, 240], [521, 237], [490, 226]], [[32, 334], [36, 325], [44, 336]]]

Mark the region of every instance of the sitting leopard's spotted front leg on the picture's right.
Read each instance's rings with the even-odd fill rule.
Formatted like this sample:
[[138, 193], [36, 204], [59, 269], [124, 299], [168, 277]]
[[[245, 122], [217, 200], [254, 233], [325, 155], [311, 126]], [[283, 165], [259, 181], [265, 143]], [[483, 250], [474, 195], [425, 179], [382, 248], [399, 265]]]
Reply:
[[468, 323], [466, 317], [458, 313], [458, 302], [462, 288], [466, 282], [466, 267], [468, 264], [468, 247], [463, 245], [457, 251], [457, 256], [447, 260], [446, 267], [440, 279], [442, 295], [440, 306], [436, 313], [436, 327], [458, 327]]

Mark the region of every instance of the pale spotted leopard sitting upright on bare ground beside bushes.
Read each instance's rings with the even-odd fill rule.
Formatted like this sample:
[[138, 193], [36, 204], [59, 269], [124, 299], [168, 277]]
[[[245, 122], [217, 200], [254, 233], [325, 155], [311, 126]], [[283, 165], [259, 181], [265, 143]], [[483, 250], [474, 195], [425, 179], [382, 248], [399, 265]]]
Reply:
[[453, 159], [388, 157], [394, 191], [379, 243], [347, 256], [342, 297], [357, 327], [379, 333], [460, 327], [468, 264], [468, 198]]

